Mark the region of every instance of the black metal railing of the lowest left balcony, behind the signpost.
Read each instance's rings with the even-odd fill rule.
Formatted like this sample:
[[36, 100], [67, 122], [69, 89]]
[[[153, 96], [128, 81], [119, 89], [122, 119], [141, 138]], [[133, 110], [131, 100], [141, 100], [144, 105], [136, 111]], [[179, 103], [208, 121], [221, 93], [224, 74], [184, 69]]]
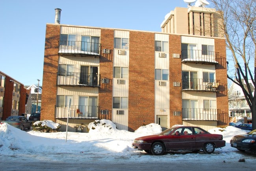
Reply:
[[98, 106], [56, 105], [55, 118], [98, 119]]

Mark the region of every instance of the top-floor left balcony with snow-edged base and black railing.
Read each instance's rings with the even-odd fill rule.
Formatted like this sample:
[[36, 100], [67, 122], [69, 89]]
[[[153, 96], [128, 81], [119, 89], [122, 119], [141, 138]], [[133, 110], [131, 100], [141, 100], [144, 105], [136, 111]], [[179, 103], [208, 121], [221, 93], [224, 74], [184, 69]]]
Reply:
[[100, 43], [82, 41], [59, 41], [59, 55], [100, 57]]

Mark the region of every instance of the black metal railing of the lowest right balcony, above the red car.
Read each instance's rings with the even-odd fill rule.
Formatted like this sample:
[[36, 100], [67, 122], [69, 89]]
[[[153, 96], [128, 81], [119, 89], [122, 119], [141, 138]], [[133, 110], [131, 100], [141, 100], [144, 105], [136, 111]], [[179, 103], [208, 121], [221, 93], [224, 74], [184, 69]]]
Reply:
[[182, 120], [217, 121], [217, 109], [182, 108]]

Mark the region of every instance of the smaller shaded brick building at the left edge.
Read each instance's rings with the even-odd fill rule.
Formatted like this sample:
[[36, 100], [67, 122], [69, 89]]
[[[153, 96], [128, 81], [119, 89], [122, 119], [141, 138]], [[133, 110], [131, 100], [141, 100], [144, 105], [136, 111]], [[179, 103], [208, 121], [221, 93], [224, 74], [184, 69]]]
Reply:
[[22, 83], [0, 71], [0, 120], [25, 113], [26, 94]]

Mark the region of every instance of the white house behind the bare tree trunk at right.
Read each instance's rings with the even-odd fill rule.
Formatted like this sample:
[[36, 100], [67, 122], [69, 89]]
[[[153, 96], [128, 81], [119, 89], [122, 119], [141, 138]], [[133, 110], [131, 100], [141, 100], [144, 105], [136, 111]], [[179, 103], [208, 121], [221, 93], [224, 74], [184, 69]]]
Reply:
[[[254, 94], [254, 86], [252, 81], [249, 80], [249, 83], [251, 89], [253, 90], [252, 93]], [[252, 112], [245, 99], [243, 90], [235, 83], [232, 83], [228, 89], [228, 109], [230, 119], [233, 122], [243, 122], [244, 117], [247, 117], [248, 122], [252, 120]]]

